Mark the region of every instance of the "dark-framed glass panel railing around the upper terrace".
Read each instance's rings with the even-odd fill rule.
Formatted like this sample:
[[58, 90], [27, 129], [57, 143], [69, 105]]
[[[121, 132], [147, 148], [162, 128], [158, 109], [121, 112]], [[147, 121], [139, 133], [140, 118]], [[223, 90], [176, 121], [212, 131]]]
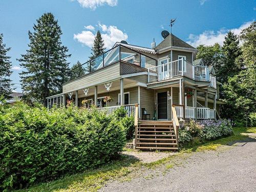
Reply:
[[128, 47], [118, 45], [101, 55], [92, 58], [82, 65], [71, 69], [65, 77], [65, 82], [74, 80], [83, 75], [92, 73], [101, 68], [111, 65], [112, 63], [123, 61], [142, 68], [156, 66], [156, 59], [134, 51]]

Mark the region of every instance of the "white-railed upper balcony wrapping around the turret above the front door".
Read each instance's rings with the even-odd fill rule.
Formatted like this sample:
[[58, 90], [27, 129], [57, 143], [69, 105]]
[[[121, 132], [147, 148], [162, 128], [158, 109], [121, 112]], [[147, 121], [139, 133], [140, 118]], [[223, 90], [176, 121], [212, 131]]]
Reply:
[[148, 83], [185, 76], [197, 81], [208, 81], [216, 88], [216, 77], [210, 75], [208, 66], [194, 66], [184, 58], [148, 68]]

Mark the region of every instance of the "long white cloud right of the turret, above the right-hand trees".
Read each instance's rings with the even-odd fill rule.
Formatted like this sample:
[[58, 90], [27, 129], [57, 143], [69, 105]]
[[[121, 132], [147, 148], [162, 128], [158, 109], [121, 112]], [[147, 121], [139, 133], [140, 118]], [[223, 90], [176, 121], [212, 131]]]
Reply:
[[243, 25], [241, 25], [239, 28], [236, 29], [220, 29], [219, 31], [204, 31], [203, 33], [199, 35], [195, 34], [189, 34], [187, 43], [191, 46], [197, 47], [199, 45], [214, 45], [216, 42], [218, 42], [220, 45], [223, 45], [223, 41], [225, 39], [225, 36], [229, 30], [231, 30], [234, 34], [239, 35], [240, 32], [249, 27], [252, 21], [246, 22]]

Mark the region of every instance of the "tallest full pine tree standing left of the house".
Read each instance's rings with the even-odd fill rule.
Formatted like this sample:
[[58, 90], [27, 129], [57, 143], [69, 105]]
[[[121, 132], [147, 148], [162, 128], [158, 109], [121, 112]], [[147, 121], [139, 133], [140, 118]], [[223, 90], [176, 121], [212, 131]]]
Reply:
[[61, 92], [68, 72], [68, 48], [62, 46], [62, 34], [52, 13], [45, 13], [29, 31], [29, 49], [17, 59], [26, 70], [20, 73], [22, 89], [28, 99], [47, 104], [46, 97]]

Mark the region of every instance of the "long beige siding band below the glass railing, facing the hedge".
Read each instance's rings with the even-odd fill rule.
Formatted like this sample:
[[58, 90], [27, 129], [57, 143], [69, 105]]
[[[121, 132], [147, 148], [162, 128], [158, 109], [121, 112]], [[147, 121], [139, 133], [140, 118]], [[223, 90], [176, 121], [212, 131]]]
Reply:
[[120, 66], [119, 62], [105, 67], [94, 73], [88, 74], [84, 77], [78, 78], [66, 84], [63, 84], [63, 93], [68, 93], [83, 88], [95, 86], [115, 79], [120, 78]]

